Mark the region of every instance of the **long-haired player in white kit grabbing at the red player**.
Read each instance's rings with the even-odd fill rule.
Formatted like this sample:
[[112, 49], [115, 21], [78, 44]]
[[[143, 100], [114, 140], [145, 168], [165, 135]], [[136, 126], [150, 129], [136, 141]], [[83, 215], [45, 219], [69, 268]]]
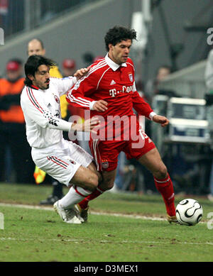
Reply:
[[55, 211], [67, 223], [81, 223], [74, 206], [97, 188], [101, 175], [92, 156], [79, 145], [65, 140], [62, 131], [92, 131], [98, 121], [92, 118], [84, 123], [70, 123], [61, 119], [60, 96], [89, 70], [82, 68], [74, 77], [57, 79], [49, 74], [54, 65], [53, 60], [41, 55], [28, 57], [21, 108], [35, 165], [59, 182], [72, 184], [65, 197], [55, 202]]

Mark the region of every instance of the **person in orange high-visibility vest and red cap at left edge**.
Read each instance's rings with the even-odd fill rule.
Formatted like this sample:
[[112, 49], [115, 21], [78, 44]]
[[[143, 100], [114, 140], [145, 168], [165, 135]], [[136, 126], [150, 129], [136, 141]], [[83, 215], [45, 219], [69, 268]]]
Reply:
[[6, 78], [0, 79], [0, 181], [6, 180], [6, 158], [10, 153], [15, 181], [32, 183], [34, 165], [20, 106], [24, 86], [22, 72], [21, 60], [9, 60], [6, 64]]

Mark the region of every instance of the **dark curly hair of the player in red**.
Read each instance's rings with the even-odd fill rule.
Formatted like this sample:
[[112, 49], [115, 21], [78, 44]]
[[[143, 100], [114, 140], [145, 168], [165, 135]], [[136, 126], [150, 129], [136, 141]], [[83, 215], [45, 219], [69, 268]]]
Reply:
[[114, 26], [109, 29], [107, 34], [104, 37], [105, 46], [107, 51], [109, 51], [109, 44], [116, 45], [122, 40], [136, 39], [136, 31], [134, 29], [122, 27], [122, 26]]

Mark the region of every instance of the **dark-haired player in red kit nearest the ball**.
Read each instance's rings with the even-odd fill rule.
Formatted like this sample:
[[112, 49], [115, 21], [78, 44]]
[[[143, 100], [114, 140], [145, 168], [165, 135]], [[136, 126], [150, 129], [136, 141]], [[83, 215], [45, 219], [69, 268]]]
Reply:
[[[136, 115], [133, 114], [133, 109], [163, 127], [169, 123], [165, 116], [155, 114], [136, 91], [134, 65], [129, 58], [133, 39], [136, 39], [136, 31], [133, 29], [122, 26], [109, 29], [104, 38], [108, 52], [106, 57], [92, 64], [89, 73], [67, 93], [70, 104], [89, 109], [91, 116], [101, 115], [104, 118], [101, 124], [104, 125], [104, 135], [107, 134], [98, 138], [91, 136], [89, 141], [97, 170], [102, 172], [103, 180], [97, 190], [76, 206], [84, 221], [87, 221], [89, 200], [113, 187], [118, 155], [124, 151], [126, 158], [136, 158], [152, 172], [155, 186], [165, 202], [167, 219], [169, 222], [177, 222], [173, 182], [167, 167], [153, 141], [140, 128], [138, 121], [134, 120]], [[116, 125], [117, 122], [120, 124]], [[119, 133], [116, 133], [118, 130]]]

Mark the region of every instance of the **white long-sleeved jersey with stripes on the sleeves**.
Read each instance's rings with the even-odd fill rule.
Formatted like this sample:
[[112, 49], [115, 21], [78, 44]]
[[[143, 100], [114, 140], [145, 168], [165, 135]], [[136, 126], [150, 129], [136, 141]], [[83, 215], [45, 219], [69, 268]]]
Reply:
[[76, 77], [50, 77], [48, 89], [23, 88], [21, 108], [26, 121], [27, 140], [32, 148], [47, 148], [60, 143], [62, 131], [70, 131], [72, 123], [61, 119], [60, 96], [76, 82]]

